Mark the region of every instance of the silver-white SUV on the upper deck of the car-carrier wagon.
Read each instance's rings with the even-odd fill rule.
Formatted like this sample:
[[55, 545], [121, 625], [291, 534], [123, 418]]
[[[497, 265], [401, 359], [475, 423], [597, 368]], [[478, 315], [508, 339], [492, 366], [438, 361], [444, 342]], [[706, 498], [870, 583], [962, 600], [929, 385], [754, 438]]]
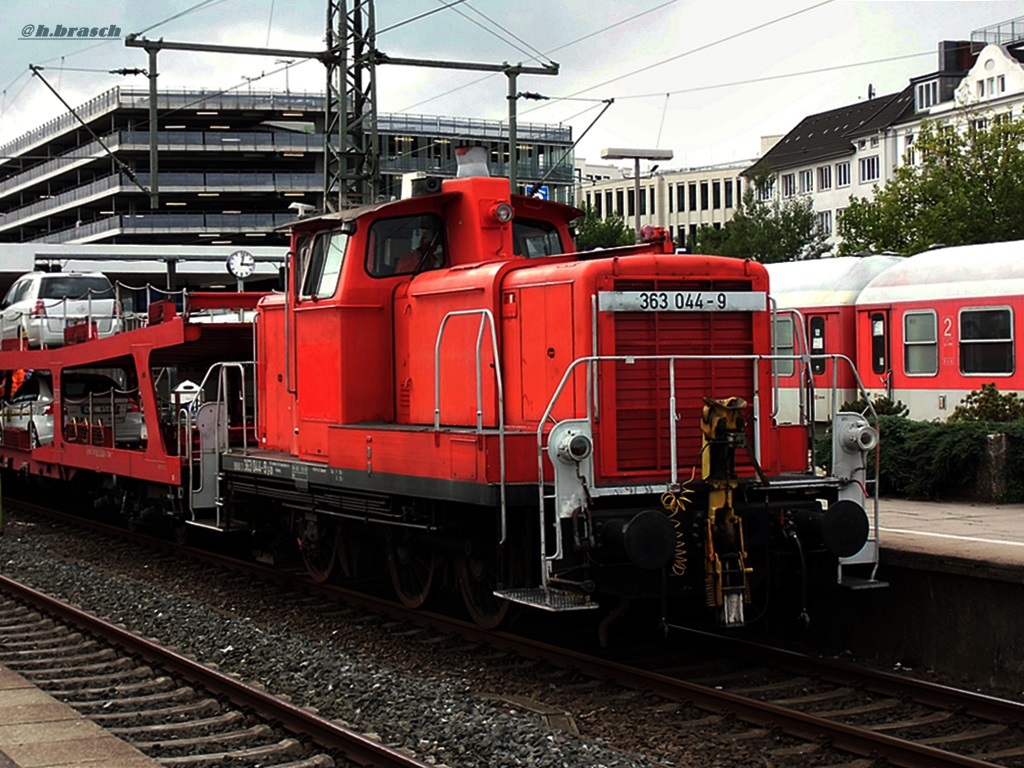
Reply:
[[86, 322], [99, 338], [121, 328], [121, 307], [102, 272], [29, 272], [0, 302], [0, 339], [24, 339], [30, 347], [60, 346], [65, 328]]

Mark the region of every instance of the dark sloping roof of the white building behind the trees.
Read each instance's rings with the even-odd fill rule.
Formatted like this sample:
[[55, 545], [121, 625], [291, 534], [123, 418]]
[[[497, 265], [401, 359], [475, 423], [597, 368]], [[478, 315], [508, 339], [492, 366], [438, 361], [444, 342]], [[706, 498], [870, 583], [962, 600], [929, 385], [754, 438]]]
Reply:
[[804, 118], [743, 173], [762, 165], [772, 169], [808, 165], [853, 154], [853, 142], [898, 122], [913, 112], [913, 88], [857, 101]]

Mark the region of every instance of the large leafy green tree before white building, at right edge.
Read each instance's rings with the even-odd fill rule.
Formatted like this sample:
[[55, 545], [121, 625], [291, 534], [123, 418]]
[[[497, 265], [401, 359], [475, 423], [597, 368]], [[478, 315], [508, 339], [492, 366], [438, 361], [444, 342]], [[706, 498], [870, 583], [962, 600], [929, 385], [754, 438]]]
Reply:
[[[955, 124], [922, 123], [912, 151], [873, 200], [851, 198], [840, 253], [920, 253], [1024, 239], [1024, 120], [962, 111]], [[904, 159], [906, 160], [906, 158]]]

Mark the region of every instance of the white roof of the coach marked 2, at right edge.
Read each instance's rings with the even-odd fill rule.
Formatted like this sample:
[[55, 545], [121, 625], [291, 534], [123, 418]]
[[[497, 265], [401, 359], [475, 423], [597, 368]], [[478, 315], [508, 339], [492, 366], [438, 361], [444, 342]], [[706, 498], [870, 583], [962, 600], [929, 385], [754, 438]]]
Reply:
[[1024, 296], [1024, 241], [925, 251], [879, 274], [860, 304]]

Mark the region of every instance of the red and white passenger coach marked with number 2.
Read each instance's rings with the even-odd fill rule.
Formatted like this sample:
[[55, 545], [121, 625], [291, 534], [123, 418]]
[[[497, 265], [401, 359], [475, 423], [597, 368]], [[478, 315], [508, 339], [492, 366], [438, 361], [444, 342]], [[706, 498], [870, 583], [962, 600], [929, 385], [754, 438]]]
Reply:
[[857, 367], [868, 391], [919, 420], [971, 391], [1024, 390], [1024, 242], [939, 248], [901, 259], [857, 299]]

